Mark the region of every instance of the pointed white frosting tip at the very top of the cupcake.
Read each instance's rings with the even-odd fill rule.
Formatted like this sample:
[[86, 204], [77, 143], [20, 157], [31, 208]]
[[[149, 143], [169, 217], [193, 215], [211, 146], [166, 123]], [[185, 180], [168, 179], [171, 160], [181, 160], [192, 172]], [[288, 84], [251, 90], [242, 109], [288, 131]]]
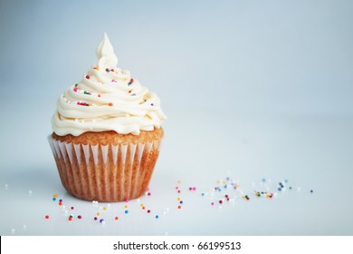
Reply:
[[103, 38], [100, 41], [100, 44], [97, 47], [97, 57], [98, 63], [97, 66], [100, 68], [109, 68], [117, 66], [118, 58], [114, 54], [113, 46], [110, 44], [110, 39], [108, 35], [104, 33]]

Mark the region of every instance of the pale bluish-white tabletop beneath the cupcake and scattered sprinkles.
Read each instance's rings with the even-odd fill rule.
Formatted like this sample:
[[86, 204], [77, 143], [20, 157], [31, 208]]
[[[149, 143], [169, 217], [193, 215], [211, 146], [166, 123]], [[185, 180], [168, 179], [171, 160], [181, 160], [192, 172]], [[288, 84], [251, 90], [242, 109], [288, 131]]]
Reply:
[[[14, 153], [11, 139], [5, 139], [7, 150], [3, 146], [1, 152], [7, 156], [0, 171], [1, 235], [353, 234], [351, 118], [224, 113], [217, 116], [224, 130], [215, 132], [217, 124], [208, 113], [169, 114], [150, 182], [151, 195], [129, 203], [92, 204], [69, 195], [62, 188], [46, 133], [33, 147], [23, 143], [19, 153]], [[17, 160], [21, 156], [24, 160]], [[227, 177], [240, 190], [224, 189], [217, 182]], [[286, 188], [277, 190], [285, 180]], [[222, 191], [215, 191], [216, 186]], [[272, 199], [258, 198], [254, 190], [277, 194]], [[68, 213], [52, 200], [54, 193], [62, 198]], [[231, 201], [220, 205], [218, 200], [225, 194]], [[242, 199], [242, 194], [250, 200]], [[184, 202], [181, 210], [177, 209], [178, 197]], [[141, 203], [151, 213], [142, 210]], [[128, 214], [124, 213], [126, 204]], [[105, 224], [93, 220], [98, 211]], [[74, 218], [69, 221], [71, 213]], [[45, 215], [50, 219], [45, 220]], [[116, 216], [119, 220], [114, 220]]]

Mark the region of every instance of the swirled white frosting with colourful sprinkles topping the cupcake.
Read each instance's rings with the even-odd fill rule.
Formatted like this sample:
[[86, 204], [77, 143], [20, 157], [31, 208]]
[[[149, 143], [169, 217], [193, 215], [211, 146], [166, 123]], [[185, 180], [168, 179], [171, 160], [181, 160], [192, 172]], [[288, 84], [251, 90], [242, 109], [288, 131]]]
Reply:
[[166, 119], [156, 93], [151, 93], [129, 71], [117, 67], [118, 58], [104, 34], [97, 48], [98, 62], [80, 83], [59, 98], [52, 129], [60, 136], [83, 132], [120, 134], [153, 131]]

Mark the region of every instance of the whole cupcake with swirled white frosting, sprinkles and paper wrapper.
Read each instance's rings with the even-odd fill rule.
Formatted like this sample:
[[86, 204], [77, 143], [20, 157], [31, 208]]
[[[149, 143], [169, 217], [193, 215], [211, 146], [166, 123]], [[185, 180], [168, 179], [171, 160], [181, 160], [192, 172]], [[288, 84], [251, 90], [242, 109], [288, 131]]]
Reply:
[[104, 34], [98, 62], [60, 96], [48, 137], [63, 187], [82, 200], [136, 199], [148, 189], [166, 119], [156, 93], [129, 71]]

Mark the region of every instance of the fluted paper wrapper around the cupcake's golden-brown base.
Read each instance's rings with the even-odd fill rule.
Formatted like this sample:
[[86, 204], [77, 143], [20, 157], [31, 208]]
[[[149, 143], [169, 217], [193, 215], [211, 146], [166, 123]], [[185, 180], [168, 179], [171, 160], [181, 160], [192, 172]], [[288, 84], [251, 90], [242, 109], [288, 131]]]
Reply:
[[82, 200], [136, 199], [148, 189], [160, 140], [84, 145], [48, 137], [63, 187]]

